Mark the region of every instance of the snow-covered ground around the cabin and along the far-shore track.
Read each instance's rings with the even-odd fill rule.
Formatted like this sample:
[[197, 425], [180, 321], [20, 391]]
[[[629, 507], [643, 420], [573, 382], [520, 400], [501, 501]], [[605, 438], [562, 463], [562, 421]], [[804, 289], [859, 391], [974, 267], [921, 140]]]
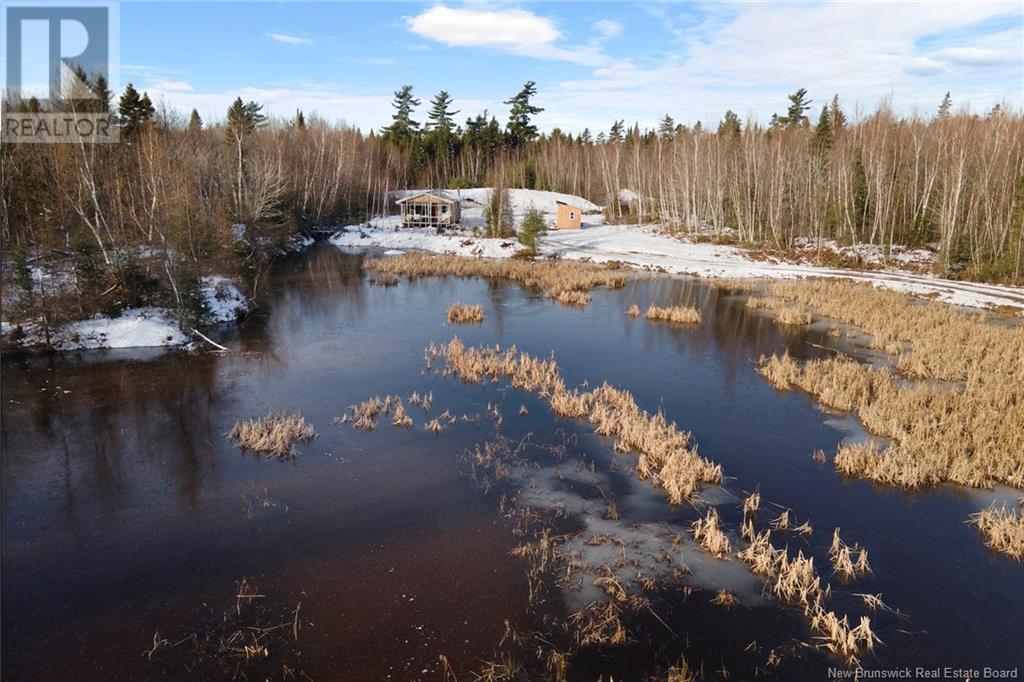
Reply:
[[[463, 256], [501, 258], [519, 249], [514, 240], [474, 237], [471, 229], [482, 224], [482, 207], [489, 189], [463, 189], [462, 229], [437, 235], [432, 228], [402, 228], [399, 216], [377, 219], [370, 225], [352, 225], [331, 237], [342, 249], [377, 247], [392, 251], [431, 251]], [[605, 225], [600, 208], [577, 197], [531, 189], [512, 189], [513, 212], [520, 218], [529, 208], [553, 216], [556, 198], [584, 208], [584, 228], [552, 230], [540, 241], [542, 255], [557, 255], [595, 262], [621, 261], [636, 267], [678, 274], [719, 279], [800, 279], [842, 278], [869, 282], [878, 287], [934, 296], [956, 305], [972, 307], [1015, 307], [1024, 310], [1024, 288], [955, 282], [905, 269], [855, 270], [822, 267], [810, 263], [755, 260], [750, 253], [731, 246], [699, 244], [666, 235], [652, 225]], [[454, 194], [454, 193], [451, 193]], [[467, 199], [472, 199], [467, 202]], [[476, 204], [479, 205], [477, 208]], [[518, 220], [517, 220], [518, 222]], [[805, 250], [812, 248], [804, 245]], [[816, 248], [816, 245], [813, 247]], [[837, 249], [840, 249], [836, 245]], [[840, 251], [842, 253], [842, 251]], [[864, 262], [882, 261], [880, 249], [859, 249]], [[932, 255], [928, 251], [894, 251], [891, 260], [922, 265]]]

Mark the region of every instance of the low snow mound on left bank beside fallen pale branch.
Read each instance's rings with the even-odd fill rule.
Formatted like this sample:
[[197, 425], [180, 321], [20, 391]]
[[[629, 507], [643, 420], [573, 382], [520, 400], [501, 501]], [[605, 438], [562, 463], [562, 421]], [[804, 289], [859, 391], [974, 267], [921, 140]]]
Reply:
[[120, 317], [96, 316], [66, 325], [57, 350], [180, 346], [188, 338], [161, 308], [130, 308]]

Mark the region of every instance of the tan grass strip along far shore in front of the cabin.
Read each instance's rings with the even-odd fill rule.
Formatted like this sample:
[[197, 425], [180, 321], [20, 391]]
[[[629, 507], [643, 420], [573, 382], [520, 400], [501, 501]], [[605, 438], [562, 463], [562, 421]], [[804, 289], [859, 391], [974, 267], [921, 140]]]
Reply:
[[372, 258], [366, 261], [365, 266], [369, 270], [411, 278], [503, 278], [530, 289], [540, 289], [548, 298], [568, 305], [586, 305], [590, 297], [584, 292], [596, 287], [616, 289], [626, 284], [626, 275], [615, 271], [617, 268], [563, 260], [467, 258], [407, 253], [400, 258]]

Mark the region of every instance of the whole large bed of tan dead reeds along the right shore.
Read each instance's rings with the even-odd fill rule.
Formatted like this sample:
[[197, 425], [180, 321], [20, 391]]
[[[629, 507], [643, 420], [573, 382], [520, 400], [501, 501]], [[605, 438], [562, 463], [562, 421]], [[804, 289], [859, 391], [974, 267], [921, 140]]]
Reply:
[[908, 488], [944, 481], [1024, 487], [1024, 326], [848, 282], [779, 283], [772, 293], [863, 329], [871, 347], [918, 380], [848, 358], [762, 364], [776, 387], [856, 411], [890, 440], [877, 454], [841, 449], [841, 471]]

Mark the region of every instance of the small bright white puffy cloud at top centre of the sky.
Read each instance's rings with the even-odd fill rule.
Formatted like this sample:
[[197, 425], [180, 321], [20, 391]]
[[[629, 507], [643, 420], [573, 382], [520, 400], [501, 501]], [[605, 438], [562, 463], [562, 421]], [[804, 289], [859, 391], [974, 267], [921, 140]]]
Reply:
[[524, 9], [434, 5], [416, 16], [407, 16], [406, 25], [416, 35], [449, 47], [483, 47], [582, 65], [607, 60], [593, 45], [556, 45], [562, 34], [555, 23]]

